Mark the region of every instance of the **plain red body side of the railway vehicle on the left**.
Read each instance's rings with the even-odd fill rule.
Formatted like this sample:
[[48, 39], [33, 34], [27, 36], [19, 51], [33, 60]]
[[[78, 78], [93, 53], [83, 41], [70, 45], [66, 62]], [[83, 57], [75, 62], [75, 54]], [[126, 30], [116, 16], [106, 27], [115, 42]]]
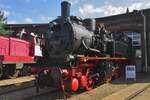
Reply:
[[29, 42], [17, 38], [0, 36], [0, 61], [33, 62], [29, 55]]

